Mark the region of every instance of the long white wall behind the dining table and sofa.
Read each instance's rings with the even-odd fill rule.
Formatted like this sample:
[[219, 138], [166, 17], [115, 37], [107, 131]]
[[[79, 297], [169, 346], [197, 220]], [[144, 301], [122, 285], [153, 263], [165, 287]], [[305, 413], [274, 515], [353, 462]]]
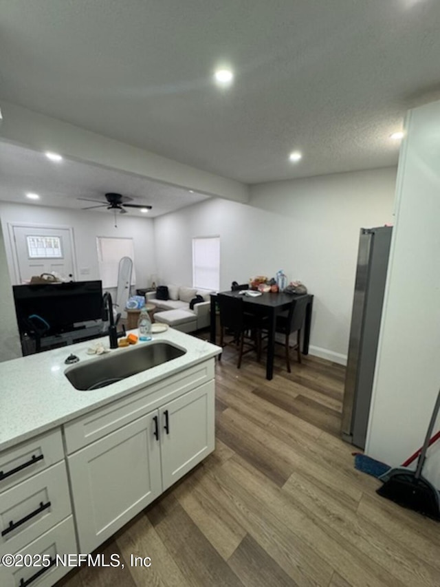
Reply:
[[155, 219], [159, 279], [192, 279], [191, 239], [221, 237], [221, 289], [280, 268], [314, 294], [311, 352], [347, 360], [362, 226], [392, 221], [392, 169], [252, 186], [249, 204], [210, 200]]

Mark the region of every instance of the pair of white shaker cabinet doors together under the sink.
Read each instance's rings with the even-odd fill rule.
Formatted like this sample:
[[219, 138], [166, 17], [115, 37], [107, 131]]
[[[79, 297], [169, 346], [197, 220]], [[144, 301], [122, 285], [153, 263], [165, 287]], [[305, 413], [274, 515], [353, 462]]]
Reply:
[[[101, 412], [87, 416], [94, 426]], [[213, 450], [212, 380], [67, 456], [80, 551], [93, 551]]]

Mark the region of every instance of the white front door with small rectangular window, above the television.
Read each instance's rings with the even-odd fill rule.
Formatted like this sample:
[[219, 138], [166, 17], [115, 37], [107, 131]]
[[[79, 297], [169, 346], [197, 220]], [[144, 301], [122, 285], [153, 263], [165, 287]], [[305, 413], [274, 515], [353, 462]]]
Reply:
[[12, 248], [17, 259], [17, 281], [32, 275], [52, 273], [74, 279], [72, 231], [70, 228], [12, 225]]

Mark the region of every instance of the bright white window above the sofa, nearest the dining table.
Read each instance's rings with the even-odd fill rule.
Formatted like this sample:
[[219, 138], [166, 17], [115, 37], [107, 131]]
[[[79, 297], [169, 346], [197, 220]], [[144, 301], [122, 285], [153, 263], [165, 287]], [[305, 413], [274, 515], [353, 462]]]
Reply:
[[192, 287], [219, 291], [220, 237], [192, 239]]

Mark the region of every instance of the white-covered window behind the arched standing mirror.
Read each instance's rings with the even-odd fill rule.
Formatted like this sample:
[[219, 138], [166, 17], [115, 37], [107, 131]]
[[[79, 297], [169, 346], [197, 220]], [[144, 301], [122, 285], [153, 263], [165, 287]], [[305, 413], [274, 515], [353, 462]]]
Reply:
[[118, 286], [118, 269], [122, 257], [130, 257], [133, 261], [131, 285], [135, 284], [135, 251], [133, 239], [97, 237], [96, 244], [98, 246], [98, 265], [102, 288], [115, 288]]

